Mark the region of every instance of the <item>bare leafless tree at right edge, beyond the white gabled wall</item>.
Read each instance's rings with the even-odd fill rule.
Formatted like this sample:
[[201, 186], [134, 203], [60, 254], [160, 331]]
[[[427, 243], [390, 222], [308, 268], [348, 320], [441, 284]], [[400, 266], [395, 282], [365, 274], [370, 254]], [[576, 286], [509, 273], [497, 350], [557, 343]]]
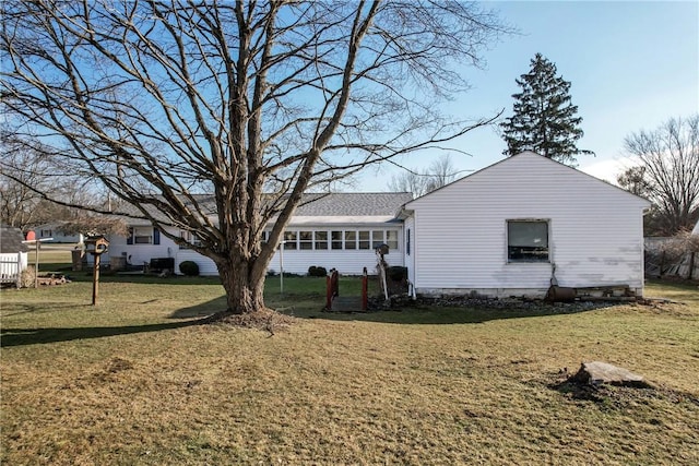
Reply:
[[633, 166], [617, 181], [653, 203], [650, 232], [691, 230], [699, 218], [699, 115], [671, 118], [624, 143]]

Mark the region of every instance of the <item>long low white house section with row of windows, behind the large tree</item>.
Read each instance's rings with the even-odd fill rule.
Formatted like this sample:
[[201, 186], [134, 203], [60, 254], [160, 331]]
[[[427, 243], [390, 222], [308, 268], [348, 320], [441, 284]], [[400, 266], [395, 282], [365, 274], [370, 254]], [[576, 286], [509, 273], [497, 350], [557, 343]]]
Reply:
[[[410, 193], [307, 194], [284, 232], [282, 251], [270, 262], [270, 271], [306, 274], [311, 265], [336, 268], [358, 275], [364, 267], [374, 272], [375, 246], [386, 243], [390, 265], [403, 265], [403, 226], [396, 214], [412, 199]], [[180, 247], [147, 220], [128, 219], [128, 237], [110, 236], [109, 256], [125, 258], [128, 264], [142, 265], [153, 259], [171, 258], [175, 272], [179, 264], [194, 261], [202, 275], [216, 275], [213, 261]], [[197, 241], [187, 231], [175, 236]], [[264, 235], [266, 238], [266, 232]]]

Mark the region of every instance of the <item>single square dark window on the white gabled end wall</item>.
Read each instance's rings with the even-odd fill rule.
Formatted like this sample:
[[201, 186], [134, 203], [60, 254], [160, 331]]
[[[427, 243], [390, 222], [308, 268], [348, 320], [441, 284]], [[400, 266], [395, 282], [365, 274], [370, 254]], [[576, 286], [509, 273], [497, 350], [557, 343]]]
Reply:
[[507, 220], [508, 262], [548, 262], [548, 220]]

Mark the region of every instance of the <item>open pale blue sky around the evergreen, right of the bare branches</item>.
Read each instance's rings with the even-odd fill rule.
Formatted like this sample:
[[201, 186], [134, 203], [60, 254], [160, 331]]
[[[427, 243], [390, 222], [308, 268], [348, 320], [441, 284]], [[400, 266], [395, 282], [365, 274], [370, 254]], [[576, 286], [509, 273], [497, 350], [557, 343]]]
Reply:
[[[520, 34], [503, 37], [484, 51], [485, 69], [464, 68], [472, 84], [445, 110], [479, 118], [505, 108], [511, 115], [514, 82], [541, 52], [558, 75], [571, 82], [570, 95], [584, 136], [578, 147], [596, 157], [579, 156], [579, 168], [615, 180], [624, 157], [624, 139], [653, 130], [671, 117], [699, 112], [699, 2], [683, 1], [491, 1], [487, 7]], [[495, 129], [475, 130], [451, 153], [459, 170], [477, 170], [503, 158], [505, 143]], [[419, 169], [439, 154], [405, 157], [401, 164]], [[359, 191], [387, 191], [399, 169], [368, 169], [357, 180]]]

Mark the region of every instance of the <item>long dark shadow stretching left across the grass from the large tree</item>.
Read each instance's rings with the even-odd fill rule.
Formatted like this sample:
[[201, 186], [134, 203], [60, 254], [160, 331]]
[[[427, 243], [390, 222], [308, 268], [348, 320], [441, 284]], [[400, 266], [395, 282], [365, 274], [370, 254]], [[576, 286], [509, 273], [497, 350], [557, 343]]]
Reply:
[[74, 339], [102, 338], [105, 336], [129, 335], [134, 333], [161, 332], [200, 324], [200, 320], [168, 322], [146, 325], [100, 326], [100, 327], [37, 327], [8, 328], [0, 332], [0, 346], [23, 346], [46, 343], [71, 342]]

